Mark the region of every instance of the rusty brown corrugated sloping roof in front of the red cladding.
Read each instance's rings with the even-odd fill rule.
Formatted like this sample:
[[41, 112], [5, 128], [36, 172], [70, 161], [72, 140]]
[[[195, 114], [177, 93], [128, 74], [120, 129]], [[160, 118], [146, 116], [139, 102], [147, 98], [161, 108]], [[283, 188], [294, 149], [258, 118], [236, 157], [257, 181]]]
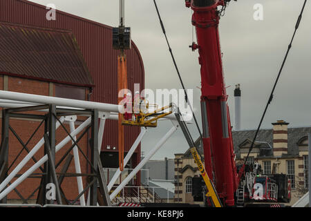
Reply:
[[0, 73], [93, 86], [72, 32], [0, 22]]

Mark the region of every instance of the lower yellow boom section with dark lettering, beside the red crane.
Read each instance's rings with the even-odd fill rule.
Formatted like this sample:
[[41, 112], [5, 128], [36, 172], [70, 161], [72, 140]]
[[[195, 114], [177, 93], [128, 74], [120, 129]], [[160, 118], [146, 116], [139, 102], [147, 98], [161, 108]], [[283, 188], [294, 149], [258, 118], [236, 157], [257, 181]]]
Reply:
[[191, 148], [190, 151], [192, 155], [194, 156], [194, 162], [196, 162], [196, 165], [198, 166], [198, 169], [203, 177], [205, 185], [207, 186], [207, 190], [208, 190], [207, 197], [211, 197], [211, 200], [213, 200], [215, 207], [223, 207], [215, 191], [214, 185], [211, 183], [211, 180], [209, 180], [209, 176], [207, 175], [207, 172], [205, 171], [205, 167], [202, 164], [202, 161], [200, 160], [198, 151], [196, 151], [196, 147]]

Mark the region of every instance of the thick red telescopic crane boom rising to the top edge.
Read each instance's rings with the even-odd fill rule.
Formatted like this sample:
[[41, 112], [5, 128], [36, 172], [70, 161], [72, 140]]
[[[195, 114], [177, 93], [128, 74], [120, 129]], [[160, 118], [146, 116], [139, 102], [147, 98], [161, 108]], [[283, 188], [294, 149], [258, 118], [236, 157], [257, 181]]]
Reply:
[[223, 0], [189, 0], [186, 6], [194, 11], [192, 24], [198, 39], [191, 47], [198, 49], [200, 55], [205, 168], [209, 177], [214, 177], [219, 197], [227, 206], [234, 206], [238, 179], [218, 33], [217, 7], [225, 3]]

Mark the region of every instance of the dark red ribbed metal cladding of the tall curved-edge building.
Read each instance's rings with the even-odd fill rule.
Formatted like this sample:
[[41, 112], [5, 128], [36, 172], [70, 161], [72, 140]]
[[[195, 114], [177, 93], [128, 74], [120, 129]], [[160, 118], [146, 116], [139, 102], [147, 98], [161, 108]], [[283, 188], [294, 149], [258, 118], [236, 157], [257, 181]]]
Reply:
[[[0, 21], [73, 32], [95, 84], [91, 100], [117, 104], [117, 51], [112, 47], [112, 28], [59, 10], [56, 12], [56, 20], [48, 21], [47, 12], [46, 6], [30, 1], [0, 1]], [[144, 65], [133, 42], [126, 56], [129, 89], [133, 92], [135, 83], [140, 84], [140, 90], [144, 89]], [[108, 120], [105, 132], [102, 151], [106, 150], [107, 145], [117, 148], [117, 122]], [[129, 151], [140, 128], [126, 128], [125, 133], [125, 151]], [[137, 152], [140, 153], [140, 148]]]

